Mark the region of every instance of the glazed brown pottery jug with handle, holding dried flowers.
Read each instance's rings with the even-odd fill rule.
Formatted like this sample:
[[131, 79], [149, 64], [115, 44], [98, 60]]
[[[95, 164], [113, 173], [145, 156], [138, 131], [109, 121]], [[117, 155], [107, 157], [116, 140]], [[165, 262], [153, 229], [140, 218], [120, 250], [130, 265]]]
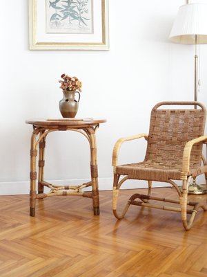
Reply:
[[[75, 93], [79, 94], [79, 99], [76, 100]], [[63, 99], [59, 101], [59, 110], [63, 118], [75, 118], [79, 109], [79, 100], [81, 95], [79, 91], [63, 90]]]

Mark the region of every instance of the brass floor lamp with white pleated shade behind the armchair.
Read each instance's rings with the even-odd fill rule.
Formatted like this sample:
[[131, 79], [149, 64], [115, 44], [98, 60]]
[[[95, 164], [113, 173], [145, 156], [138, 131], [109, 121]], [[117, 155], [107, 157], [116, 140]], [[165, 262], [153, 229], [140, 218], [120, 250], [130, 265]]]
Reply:
[[[197, 44], [207, 44], [207, 3], [188, 3], [179, 8], [169, 37], [171, 42], [195, 45], [194, 100], [197, 101], [198, 55]], [[197, 109], [197, 106], [195, 106]], [[206, 185], [197, 185], [195, 179], [188, 194], [206, 193]]]

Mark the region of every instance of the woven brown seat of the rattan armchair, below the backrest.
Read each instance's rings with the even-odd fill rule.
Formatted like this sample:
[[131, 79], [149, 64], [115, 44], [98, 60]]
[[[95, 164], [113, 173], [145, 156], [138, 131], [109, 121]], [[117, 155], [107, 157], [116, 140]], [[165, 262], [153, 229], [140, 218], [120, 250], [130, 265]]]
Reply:
[[[197, 176], [206, 172], [207, 166], [192, 168], [188, 175]], [[168, 181], [168, 179], [181, 179], [181, 163], [157, 163], [144, 161], [142, 163], [130, 163], [117, 166], [116, 172], [119, 175], [128, 175], [130, 179]]]

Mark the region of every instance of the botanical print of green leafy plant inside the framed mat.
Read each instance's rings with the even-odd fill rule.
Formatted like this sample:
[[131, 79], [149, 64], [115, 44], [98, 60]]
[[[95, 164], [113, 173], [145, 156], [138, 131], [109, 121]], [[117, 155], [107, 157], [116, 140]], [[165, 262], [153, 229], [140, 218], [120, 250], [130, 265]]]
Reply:
[[93, 0], [46, 0], [46, 33], [93, 33]]

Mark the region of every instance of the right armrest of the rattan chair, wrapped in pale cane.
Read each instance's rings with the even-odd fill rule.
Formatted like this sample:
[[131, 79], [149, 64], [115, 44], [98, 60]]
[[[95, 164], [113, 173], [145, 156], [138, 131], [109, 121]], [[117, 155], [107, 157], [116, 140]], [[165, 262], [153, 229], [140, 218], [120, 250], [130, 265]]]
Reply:
[[193, 145], [196, 143], [206, 143], [207, 136], [199, 136], [197, 139], [192, 139], [188, 141], [184, 148], [184, 154], [182, 159], [182, 172], [189, 172], [190, 171], [190, 153], [193, 148]]

